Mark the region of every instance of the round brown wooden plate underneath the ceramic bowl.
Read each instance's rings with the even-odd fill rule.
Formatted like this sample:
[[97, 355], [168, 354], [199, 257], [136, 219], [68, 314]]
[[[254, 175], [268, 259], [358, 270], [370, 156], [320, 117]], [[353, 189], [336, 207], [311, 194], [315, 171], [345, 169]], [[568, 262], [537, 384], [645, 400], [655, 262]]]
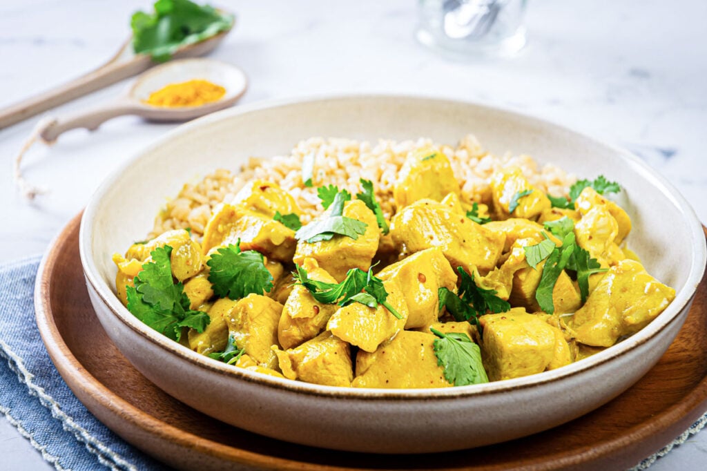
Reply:
[[[555, 429], [494, 446], [430, 455], [344, 453], [264, 438], [183, 405], [120, 354], [95, 318], [84, 287], [78, 257], [80, 221], [81, 215], [76, 216], [64, 228], [37, 276], [35, 304], [42, 339], [59, 373], [90, 412], [129, 443], [175, 467], [619, 469], [636, 465], [670, 443], [707, 409], [706, 277], [684, 327], [655, 368], [609, 404]], [[207, 397], [205, 392], [204, 400]]]

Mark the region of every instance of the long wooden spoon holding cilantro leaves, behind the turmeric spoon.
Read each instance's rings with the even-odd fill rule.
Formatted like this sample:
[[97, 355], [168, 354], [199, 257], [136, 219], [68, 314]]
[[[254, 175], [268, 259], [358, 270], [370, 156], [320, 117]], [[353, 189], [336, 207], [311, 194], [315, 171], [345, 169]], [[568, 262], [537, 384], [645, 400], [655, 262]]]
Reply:
[[[229, 32], [230, 30], [222, 31], [203, 41], [182, 46], [173, 54], [173, 58], [183, 59], [207, 54], [214, 50], [214, 47], [221, 43]], [[74, 81], [64, 83], [57, 88], [0, 110], [0, 129], [117, 81], [140, 74], [156, 64], [149, 54], [135, 54], [132, 50], [132, 39], [128, 40], [112, 59], [98, 69], [78, 77]]]

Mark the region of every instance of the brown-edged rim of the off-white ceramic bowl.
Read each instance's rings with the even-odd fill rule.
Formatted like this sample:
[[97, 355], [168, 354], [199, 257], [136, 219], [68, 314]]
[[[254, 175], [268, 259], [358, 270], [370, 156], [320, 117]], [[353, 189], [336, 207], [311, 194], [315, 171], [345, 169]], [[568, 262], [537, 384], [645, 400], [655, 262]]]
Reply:
[[[654, 187], [666, 197], [671, 199], [674, 207], [680, 211], [683, 219], [688, 223], [690, 228], [691, 247], [693, 256], [689, 267], [689, 274], [682, 289], [677, 291], [676, 296], [670, 306], [668, 306], [657, 318], [655, 318], [648, 326], [641, 331], [614, 344], [612, 347], [604, 349], [599, 353], [590, 356], [582, 361], [577, 361], [573, 364], [563, 366], [551, 371], [544, 371], [530, 376], [521, 378], [513, 378], [510, 380], [501, 380], [491, 383], [456, 386], [452, 388], [421, 388], [421, 389], [377, 389], [377, 388], [341, 388], [336, 386], [316, 385], [312, 383], [304, 383], [302, 381], [288, 380], [285, 378], [276, 378], [263, 373], [248, 371], [243, 368], [234, 368], [226, 365], [223, 362], [210, 359], [207, 356], [198, 354], [195, 351], [174, 342], [165, 335], [160, 334], [156, 330], [151, 329], [143, 322], [138, 320], [127, 310], [119, 301], [115, 293], [108, 284], [105, 283], [100, 276], [97, 264], [93, 259], [91, 250], [91, 234], [94, 231], [93, 221], [95, 214], [100, 207], [105, 194], [115, 185], [116, 180], [124, 173], [134, 161], [149, 156], [153, 151], [167, 144], [175, 136], [182, 136], [190, 132], [208, 127], [214, 122], [228, 120], [230, 117], [238, 115], [246, 115], [250, 112], [267, 110], [277, 107], [288, 107], [291, 105], [304, 105], [327, 101], [344, 101], [344, 100], [407, 100], [418, 102], [437, 102], [439, 105], [469, 105], [477, 107], [481, 110], [489, 112], [500, 112], [509, 117], [515, 117], [531, 124], [536, 124], [542, 127], [550, 127], [556, 131], [561, 131], [571, 136], [592, 141], [593, 144], [604, 146], [613, 151], [619, 158], [623, 158], [629, 163], [636, 165], [641, 170], [643, 178], [646, 178]], [[621, 149], [618, 146], [600, 141], [592, 136], [576, 132], [567, 127], [561, 126], [549, 120], [540, 119], [531, 115], [527, 115], [516, 110], [511, 110], [507, 107], [491, 106], [482, 103], [477, 103], [469, 100], [452, 100], [445, 97], [435, 97], [429, 95], [409, 95], [409, 94], [391, 94], [391, 93], [337, 93], [337, 94], [321, 94], [308, 95], [306, 97], [279, 98], [274, 100], [263, 100], [247, 105], [239, 105], [238, 107], [214, 112], [210, 115], [198, 118], [186, 124], [182, 124], [175, 129], [170, 130], [146, 146], [141, 151], [138, 151], [131, 158], [127, 159], [122, 165], [119, 165], [103, 182], [91, 197], [88, 206], [86, 207], [81, 219], [81, 228], [79, 232], [79, 254], [81, 257], [81, 265], [83, 268], [86, 284], [90, 290], [100, 298], [100, 301], [110, 310], [110, 313], [115, 316], [125, 326], [129, 327], [136, 335], [143, 337], [152, 344], [160, 347], [170, 354], [174, 354], [178, 359], [187, 361], [194, 366], [205, 368], [212, 373], [235, 380], [245, 380], [248, 383], [256, 383], [263, 387], [283, 392], [291, 392], [305, 394], [318, 397], [331, 397], [345, 400], [420, 400], [420, 399], [457, 399], [459, 397], [476, 397], [493, 395], [499, 392], [509, 392], [512, 390], [520, 390], [526, 388], [536, 388], [539, 385], [554, 383], [557, 380], [578, 376], [592, 368], [600, 366], [607, 361], [628, 354], [629, 351], [635, 349], [641, 344], [648, 342], [650, 339], [658, 335], [659, 332], [665, 330], [668, 325], [675, 322], [679, 317], [679, 313], [686, 308], [691, 302], [697, 286], [699, 285], [707, 262], [707, 245], [705, 235], [702, 230], [702, 224], [696, 216], [694, 209], [679, 193], [679, 191], [668, 182], [662, 175], [658, 174], [653, 168], [650, 168], [640, 158], [626, 149]]]

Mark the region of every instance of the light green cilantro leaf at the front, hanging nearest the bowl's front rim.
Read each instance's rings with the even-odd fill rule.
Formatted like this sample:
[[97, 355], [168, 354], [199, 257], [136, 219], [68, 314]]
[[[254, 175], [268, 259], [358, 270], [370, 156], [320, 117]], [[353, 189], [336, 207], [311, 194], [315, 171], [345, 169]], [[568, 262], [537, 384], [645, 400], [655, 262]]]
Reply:
[[430, 329], [440, 337], [433, 342], [437, 364], [444, 369], [444, 377], [455, 386], [488, 383], [484, 364], [481, 361], [481, 349], [466, 334], [450, 332], [444, 334]]

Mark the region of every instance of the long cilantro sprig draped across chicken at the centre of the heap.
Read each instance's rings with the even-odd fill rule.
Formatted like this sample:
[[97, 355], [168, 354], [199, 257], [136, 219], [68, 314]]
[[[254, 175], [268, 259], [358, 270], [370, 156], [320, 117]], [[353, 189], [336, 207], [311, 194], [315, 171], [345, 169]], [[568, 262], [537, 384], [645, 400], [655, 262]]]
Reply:
[[352, 268], [346, 272], [346, 278], [341, 283], [327, 283], [310, 279], [307, 270], [300, 265], [297, 265], [297, 272], [293, 275], [297, 284], [308, 289], [312, 293], [312, 297], [320, 303], [349, 306], [349, 304], [356, 302], [369, 308], [377, 308], [380, 304], [396, 318], [402, 319], [402, 315], [387, 302], [388, 293], [385, 291], [382, 279], [374, 277], [371, 269], [364, 272], [360, 268]]

